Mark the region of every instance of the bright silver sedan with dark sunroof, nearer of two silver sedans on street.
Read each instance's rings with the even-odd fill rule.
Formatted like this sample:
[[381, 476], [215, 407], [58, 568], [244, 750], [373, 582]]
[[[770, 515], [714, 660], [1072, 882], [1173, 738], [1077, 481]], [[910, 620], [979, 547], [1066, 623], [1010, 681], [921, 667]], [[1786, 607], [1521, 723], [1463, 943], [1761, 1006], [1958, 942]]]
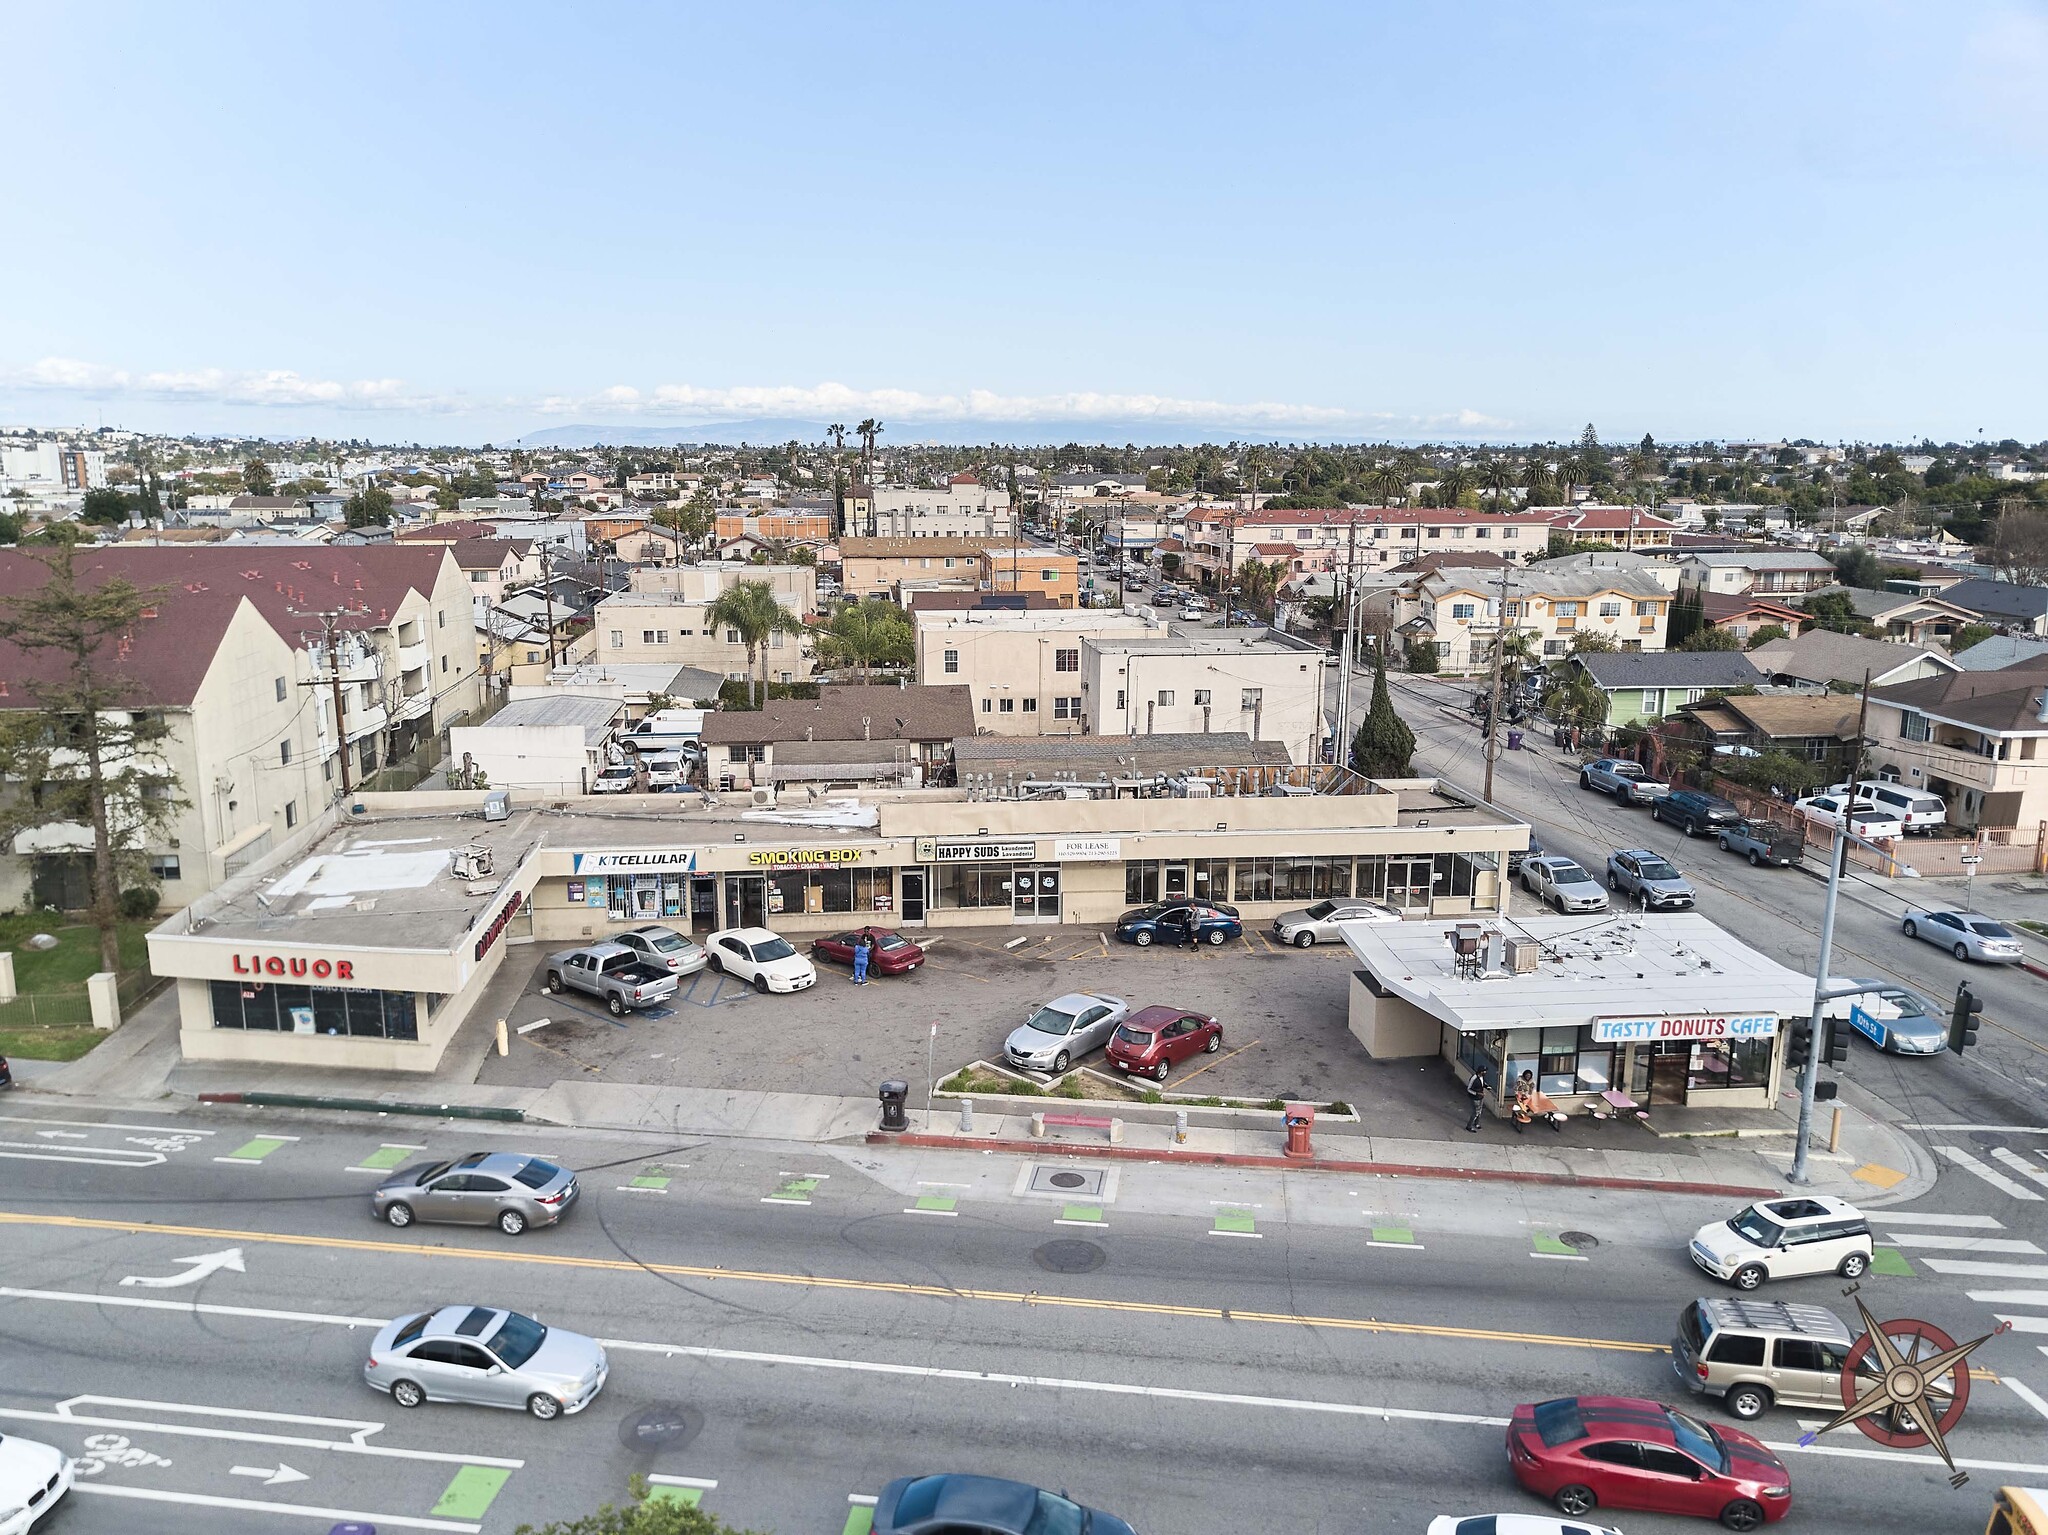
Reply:
[[471, 1402], [559, 1418], [604, 1390], [610, 1365], [596, 1339], [494, 1306], [442, 1306], [385, 1322], [362, 1379], [403, 1408]]

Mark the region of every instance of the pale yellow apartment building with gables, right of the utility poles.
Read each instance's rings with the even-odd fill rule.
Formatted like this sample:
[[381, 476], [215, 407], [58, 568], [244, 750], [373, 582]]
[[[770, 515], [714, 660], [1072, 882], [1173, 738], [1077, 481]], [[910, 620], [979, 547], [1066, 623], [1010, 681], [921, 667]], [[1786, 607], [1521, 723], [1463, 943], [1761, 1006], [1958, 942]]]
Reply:
[[1399, 634], [1434, 645], [1438, 667], [1464, 673], [1493, 663], [1503, 618], [1544, 659], [1571, 653], [1581, 632], [1599, 634], [1620, 651], [1661, 651], [1671, 618], [1669, 591], [1620, 569], [1442, 567], [1395, 587], [1386, 602]]

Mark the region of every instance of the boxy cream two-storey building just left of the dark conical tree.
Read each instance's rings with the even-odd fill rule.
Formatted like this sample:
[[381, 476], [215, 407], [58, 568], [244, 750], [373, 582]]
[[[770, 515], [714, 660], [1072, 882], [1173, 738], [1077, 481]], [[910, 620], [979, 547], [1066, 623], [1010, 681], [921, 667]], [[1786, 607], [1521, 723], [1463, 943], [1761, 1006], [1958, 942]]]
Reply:
[[[1239, 731], [1286, 747], [1294, 763], [1323, 759], [1321, 645], [1278, 630], [1155, 632], [1081, 641], [1081, 725], [1096, 735]], [[987, 725], [987, 700], [975, 720]], [[1141, 759], [1143, 761], [1143, 759]]]

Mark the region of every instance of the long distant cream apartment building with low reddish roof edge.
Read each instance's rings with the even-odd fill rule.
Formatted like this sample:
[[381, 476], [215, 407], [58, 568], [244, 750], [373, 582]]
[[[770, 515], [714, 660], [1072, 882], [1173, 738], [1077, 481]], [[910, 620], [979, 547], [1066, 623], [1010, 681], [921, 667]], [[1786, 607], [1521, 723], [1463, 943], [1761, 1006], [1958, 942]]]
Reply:
[[1550, 514], [1341, 508], [1333, 512], [1243, 512], [1190, 508], [1180, 530], [1182, 561], [1214, 587], [1225, 563], [1243, 565], [1253, 544], [1286, 544], [1288, 571], [1386, 571], [1423, 555], [1481, 551], [1513, 561], [1550, 553]]

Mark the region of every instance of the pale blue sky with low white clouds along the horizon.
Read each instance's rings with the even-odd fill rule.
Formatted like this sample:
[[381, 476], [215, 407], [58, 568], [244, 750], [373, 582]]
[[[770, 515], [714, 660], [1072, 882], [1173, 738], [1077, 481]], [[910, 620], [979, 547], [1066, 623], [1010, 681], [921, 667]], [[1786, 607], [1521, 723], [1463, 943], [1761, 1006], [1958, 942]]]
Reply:
[[0, 29], [0, 424], [2048, 436], [2048, 0]]

